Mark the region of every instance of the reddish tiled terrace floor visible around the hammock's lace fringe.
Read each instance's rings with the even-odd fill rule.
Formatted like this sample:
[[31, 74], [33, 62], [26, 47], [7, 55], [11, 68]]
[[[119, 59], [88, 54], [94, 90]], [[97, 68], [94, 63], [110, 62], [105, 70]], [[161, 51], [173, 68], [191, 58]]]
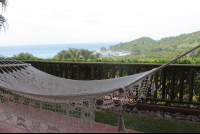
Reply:
[[[101, 123], [94, 123], [94, 132], [95, 133], [118, 133], [117, 127], [110, 126]], [[22, 129], [21, 127], [16, 127], [11, 124], [8, 124], [6, 121], [0, 121], [0, 133], [29, 133], [27, 130]], [[141, 133], [134, 130], [126, 129], [123, 133]]]

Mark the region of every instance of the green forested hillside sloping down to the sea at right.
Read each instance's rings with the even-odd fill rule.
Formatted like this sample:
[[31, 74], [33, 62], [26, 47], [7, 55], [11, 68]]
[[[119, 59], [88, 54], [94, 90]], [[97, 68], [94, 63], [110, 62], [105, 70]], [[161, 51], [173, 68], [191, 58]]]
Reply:
[[175, 37], [166, 37], [159, 41], [155, 41], [149, 37], [141, 37], [130, 42], [110, 46], [109, 50], [123, 50], [132, 53], [122, 58], [166, 59], [174, 58], [197, 45], [200, 45], [200, 31], [190, 34], [181, 34]]

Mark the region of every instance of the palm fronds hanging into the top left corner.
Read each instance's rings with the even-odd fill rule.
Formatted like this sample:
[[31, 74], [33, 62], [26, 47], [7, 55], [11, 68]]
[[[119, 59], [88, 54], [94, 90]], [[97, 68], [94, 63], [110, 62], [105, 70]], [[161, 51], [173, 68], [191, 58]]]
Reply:
[[[7, 3], [8, 3], [7, 0], [0, 0], [0, 4], [2, 5], [2, 11], [3, 11], [3, 9], [4, 10], [6, 9]], [[6, 18], [2, 14], [0, 14], [0, 30], [1, 30], [2, 27], [5, 29], [6, 25], [7, 25]]]

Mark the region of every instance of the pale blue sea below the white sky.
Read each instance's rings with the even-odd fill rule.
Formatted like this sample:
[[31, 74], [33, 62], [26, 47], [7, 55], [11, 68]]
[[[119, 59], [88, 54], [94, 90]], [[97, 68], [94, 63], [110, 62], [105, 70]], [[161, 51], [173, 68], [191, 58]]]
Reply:
[[[109, 43], [78, 43], [78, 44], [55, 44], [55, 45], [26, 45], [26, 46], [0, 46], [0, 55], [12, 57], [19, 53], [30, 53], [39, 58], [53, 58], [58, 52], [68, 48], [96, 50], [99, 52], [102, 46], [109, 48], [118, 42]], [[100, 52], [102, 55], [116, 54], [116, 52]]]

